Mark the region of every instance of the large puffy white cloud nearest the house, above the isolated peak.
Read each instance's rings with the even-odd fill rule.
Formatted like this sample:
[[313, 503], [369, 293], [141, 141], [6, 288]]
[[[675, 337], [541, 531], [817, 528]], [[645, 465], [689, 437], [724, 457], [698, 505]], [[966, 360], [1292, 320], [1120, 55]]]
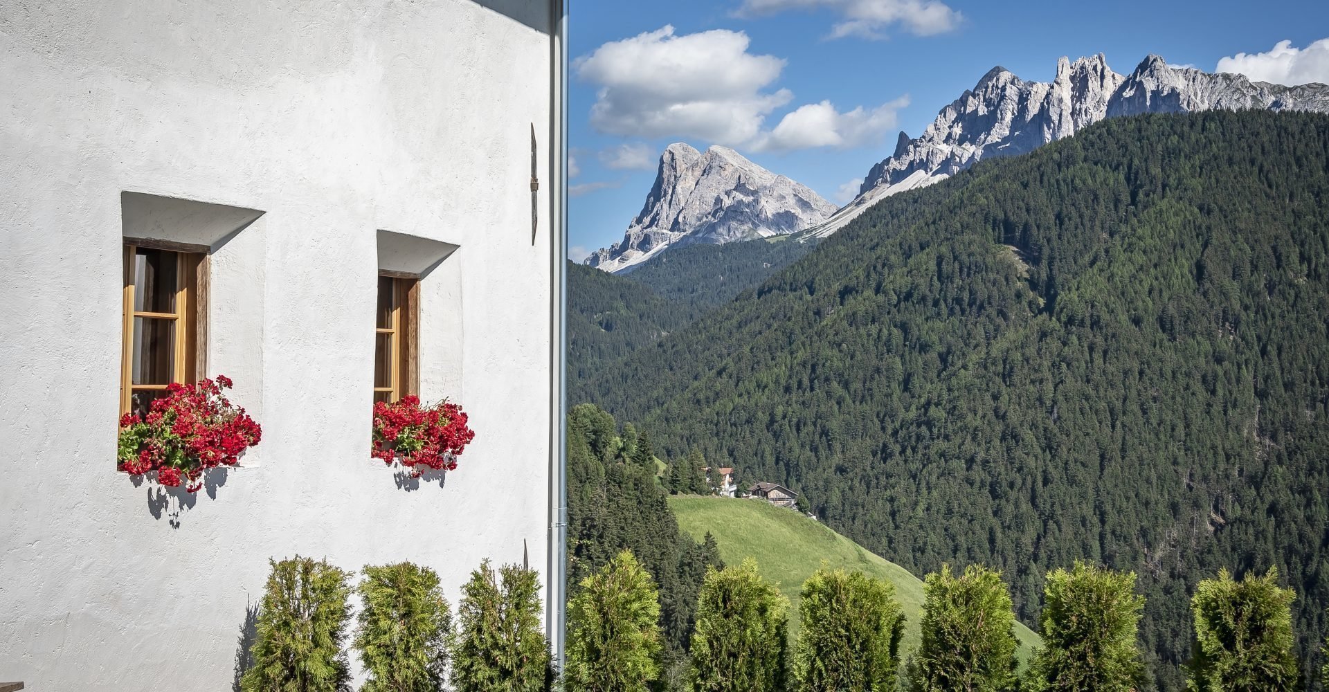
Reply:
[[577, 77], [599, 85], [590, 122], [601, 133], [675, 137], [736, 146], [754, 139], [787, 89], [763, 92], [784, 60], [748, 53], [743, 32], [683, 36], [674, 27], [610, 41], [573, 62]]

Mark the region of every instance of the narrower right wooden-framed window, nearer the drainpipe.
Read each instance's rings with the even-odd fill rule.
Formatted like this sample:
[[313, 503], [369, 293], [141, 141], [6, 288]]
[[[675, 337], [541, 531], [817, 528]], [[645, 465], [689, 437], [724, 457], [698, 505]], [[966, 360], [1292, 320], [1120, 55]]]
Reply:
[[419, 393], [419, 291], [411, 278], [379, 276], [373, 339], [373, 401]]

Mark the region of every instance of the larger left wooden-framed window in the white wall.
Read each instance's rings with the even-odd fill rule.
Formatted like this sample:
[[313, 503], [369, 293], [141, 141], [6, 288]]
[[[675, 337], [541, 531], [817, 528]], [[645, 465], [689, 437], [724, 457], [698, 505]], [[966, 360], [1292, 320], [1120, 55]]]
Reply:
[[120, 412], [146, 414], [170, 383], [197, 379], [198, 252], [125, 246]]

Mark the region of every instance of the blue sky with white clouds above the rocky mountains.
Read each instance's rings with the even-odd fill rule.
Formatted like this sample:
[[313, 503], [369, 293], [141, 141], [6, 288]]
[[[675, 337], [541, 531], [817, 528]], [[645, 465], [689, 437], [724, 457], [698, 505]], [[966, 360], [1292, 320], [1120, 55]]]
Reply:
[[994, 65], [1049, 81], [1061, 56], [1128, 73], [1158, 53], [1329, 82], [1324, 1], [577, 0], [570, 24], [574, 260], [622, 238], [671, 142], [732, 146], [843, 203]]

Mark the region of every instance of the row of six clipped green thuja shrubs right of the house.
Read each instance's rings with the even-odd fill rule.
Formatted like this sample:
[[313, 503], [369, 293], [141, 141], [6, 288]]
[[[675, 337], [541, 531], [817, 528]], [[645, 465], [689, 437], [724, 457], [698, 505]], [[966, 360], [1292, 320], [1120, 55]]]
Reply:
[[[642, 691], [659, 671], [658, 594], [623, 553], [594, 578], [569, 616], [569, 692]], [[922, 642], [901, 669], [904, 614], [892, 584], [859, 572], [815, 572], [801, 590], [803, 634], [785, 655], [788, 602], [746, 562], [710, 570], [691, 642], [692, 692], [1127, 692], [1143, 676], [1138, 627], [1144, 599], [1132, 572], [1078, 562], [1045, 584], [1045, 647], [1017, 676], [1015, 616], [1001, 572], [949, 566], [925, 580]], [[1276, 572], [1237, 582], [1225, 572], [1192, 600], [1196, 692], [1292, 691], [1289, 607]], [[792, 659], [792, 660], [789, 660]], [[574, 669], [573, 669], [574, 668]], [[666, 689], [655, 681], [651, 689]], [[670, 689], [674, 687], [671, 685]]]

